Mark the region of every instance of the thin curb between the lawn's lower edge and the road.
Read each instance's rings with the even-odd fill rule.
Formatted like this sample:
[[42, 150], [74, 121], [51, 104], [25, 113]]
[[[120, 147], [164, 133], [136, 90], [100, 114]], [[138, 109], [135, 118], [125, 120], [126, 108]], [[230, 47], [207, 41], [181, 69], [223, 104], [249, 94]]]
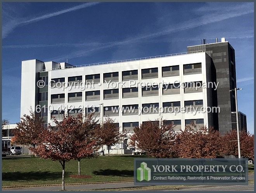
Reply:
[[[127, 181], [109, 181], [109, 182], [71, 183], [71, 184], [65, 184], [65, 186], [88, 185], [88, 184], [113, 184], [113, 183], [129, 183], [129, 182], [133, 182], [133, 180], [127, 180]], [[61, 186], [61, 185], [62, 185], [62, 184], [42, 184], [42, 185], [25, 185], [25, 186], [2, 186], [2, 189], [34, 188], [34, 187]]]

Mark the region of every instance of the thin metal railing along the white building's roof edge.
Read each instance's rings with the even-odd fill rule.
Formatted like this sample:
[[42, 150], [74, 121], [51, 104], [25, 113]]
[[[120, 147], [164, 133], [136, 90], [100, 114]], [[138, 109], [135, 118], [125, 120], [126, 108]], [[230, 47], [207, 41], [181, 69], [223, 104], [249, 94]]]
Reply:
[[[203, 51], [198, 50], [198, 51], [192, 51], [192, 52], [171, 53], [171, 54], [166, 54], [166, 55], [150, 56], [150, 57], [143, 57], [143, 58], [127, 59], [127, 60], [116, 60], [116, 61], [111, 61], [111, 62], [99, 62], [99, 63], [93, 63], [93, 64], [73, 65], [73, 66], [67, 66], [65, 68], [59, 67], [59, 68], [52, 68], [52, 69], [47, 69], [47, 70], [54, 71], [54, 70], [67, 69], [67, 68], [78, 68], [78, 67], [87, 67], [87, 66], [95, 66], [95, 65], [115, 64], [115, 63], [121, 63], [121, 62], [131, 62], [131, 61], [137, 61], [137, 60], [163, 58], [163, 57], [168, 57], [168, 56], [185, 55], [185, 54], [189, 54], [189, 53], [198, 53], [198, 52], [203, 52]], [[41, 70], [40, 72], [45, 72], [45, 69]]]

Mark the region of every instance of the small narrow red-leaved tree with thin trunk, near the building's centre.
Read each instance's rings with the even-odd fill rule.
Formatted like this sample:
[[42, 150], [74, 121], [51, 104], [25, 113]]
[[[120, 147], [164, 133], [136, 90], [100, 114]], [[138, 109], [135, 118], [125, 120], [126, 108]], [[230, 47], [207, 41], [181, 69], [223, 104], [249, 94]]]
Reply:
[[120, 143], [121, 137], [125, 133], [119, 131], [119, 127], [114, 123], [114, 119], [107, 117], [104, 121], [103, 128], [102, 126], [97, 129], [97, 136], [99, 136], [101, 145], [106, 145], [108, 147], [108, 156], [109, 148], [113, 143]]

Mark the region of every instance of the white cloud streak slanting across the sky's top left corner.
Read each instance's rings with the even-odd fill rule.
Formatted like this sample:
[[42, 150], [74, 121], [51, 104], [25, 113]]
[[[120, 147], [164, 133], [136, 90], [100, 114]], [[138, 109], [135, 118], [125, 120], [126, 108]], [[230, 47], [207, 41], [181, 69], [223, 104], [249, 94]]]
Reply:
[[12, 18], [8, 22], [7, 21], [3, 21], [2, 38], [6, 38], [15, 28], [17, 28], [19, 26], [24, 26], [26, 24], [30, 24], [30, 23], [33, 23], [33, 22], [37, 22], [37, 21], [41, 21], [41, 20], [44, 20], [44, 19], [48, 19], [50, 17], [59, 16], [61, 14], [65, 14], [67, 12], [72, 12], [72, 11], [76, 11], [76, 10], [79, 10], [79, 9], [84, 9], [86, 7], [91, 7], [91, 6], [97, 5], [99, 3], [100, 2], [83, 3], [81, 5], [70, 7], [68, 9], [64, 9], [64, 10], [60, 10], [60, 11], [57, 11], [57, 12], [48, 13], [48, 14], [45, 14], [43, 16], [38, 16], [38, 17], [33, 17], [33, 18], [23, 18], [23, 19]]

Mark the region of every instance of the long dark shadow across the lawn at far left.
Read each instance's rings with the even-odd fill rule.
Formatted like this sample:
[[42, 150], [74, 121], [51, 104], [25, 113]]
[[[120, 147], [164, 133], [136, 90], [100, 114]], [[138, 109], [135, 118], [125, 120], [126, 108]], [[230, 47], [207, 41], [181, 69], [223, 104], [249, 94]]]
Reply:
[[[69, 175], [65, 172], [65, 177]], [[62, 172], [2, 172], [2, 181], [37, 181], [55, 180], [62, 177]]]

